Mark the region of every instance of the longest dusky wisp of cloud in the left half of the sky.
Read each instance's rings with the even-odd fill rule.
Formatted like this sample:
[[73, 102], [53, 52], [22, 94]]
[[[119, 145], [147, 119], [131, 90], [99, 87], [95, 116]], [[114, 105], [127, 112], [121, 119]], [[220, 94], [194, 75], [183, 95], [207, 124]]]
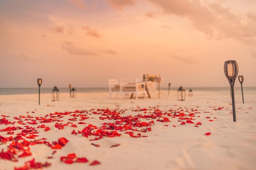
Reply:
[[83, 55], [83, 56], [96, 56], [96, 55], [99, 55], [96, 52], [92, 52], [92, 51], [86, 50], [84, 48], [78, 48], [78, 47], [74, 46], [73, 43], [70, 42], [70, 41], [64, 42], [61, 46], [62, 46], [62, 48], [64, 50], [66, 50], [70, 54], [74, 54], [74, 55]]

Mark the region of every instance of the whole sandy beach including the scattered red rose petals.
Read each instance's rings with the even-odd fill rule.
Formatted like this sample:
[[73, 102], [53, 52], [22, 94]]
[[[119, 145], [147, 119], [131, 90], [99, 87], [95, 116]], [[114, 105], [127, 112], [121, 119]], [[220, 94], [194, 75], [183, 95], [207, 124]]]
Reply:
[[[256, 95], [0, 95], [0, 170], [254, 170]], [[11, 160], [9, 160], [11, 159]], [[34, 161], [33, 161], [34, 159]], [[30, 163], [26, 163], [29, 161]], [[45, 166], [45, 167], [44, 167]]]

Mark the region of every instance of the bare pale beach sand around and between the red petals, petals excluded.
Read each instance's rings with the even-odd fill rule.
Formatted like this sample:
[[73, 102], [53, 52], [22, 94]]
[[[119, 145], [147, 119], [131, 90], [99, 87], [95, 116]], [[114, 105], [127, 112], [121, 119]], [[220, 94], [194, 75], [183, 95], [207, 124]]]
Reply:
[[[19, 126], [22, 128], [38, 127], [44, 124], [50, 128], [45, 131], [44, 128], [36, 129], [39, 135], [36, 139], [46, 138], [47, 142], [58, 141], [65, 137], [69, 142], [62, 149], [52, 149], [45, 144], [30, 145], [31, 156], [18, 157], [22, 152], [17, 150], [14, 155], [18, 161], [13, 162], [7, 159], [0, 159], [0, 170], [13, 170], [14, 167], [20, 168], [25, 162], [35, 159], [36, 162], [51, 163], [51, 166], [44, 168], [47, 170], [254, 170], [256, 167], [256, 95], [244, 95], [245, 103], [242, 97], [236, 95], [236, 122], [233, 122], [232, 105], [229, 92], [226, 94], [216, 94], [213, 92], [193, 92], [193, 96], [186, 96], [185, 101], [177, 101], [177, 92], [162, 91], [160, 99], [158, 93], [151, 93], [152, 98], [138, 100], [108, 97], [108, 93], [78, 93], [77, 98], [70, 98], [68, 93], [61, 93], [60, 100], [52, 102], [51, 94], [40, 95], [40, 105], [38, 105], [38, 94], [24, 95], [2, 95], [0, 96], [0, 119], [5, 117], [14, 124], [0, 124], [0, 129], [8, 126]], [[142, 116], [150, 115], [156, 112], [171, 113], [162, 115], [159, 118], [139, 118], [140, 122], [154, 121], [152, 126], [148, 126], [152, 131], [145, 133], [132, 131], [134, 135], [141, 133], [147, 137], [130, 137], [125, 132], [117, 131], [120, 137], [103, 137], [99, 140], [90, 141], [95, 136], [84, 137], [81, 134], [72, 135], [72, 131], [82, 131], [89, 124], [103, 126], [106, 122], [115, 122], [116, 120], [100, 120], [101, 114], [93, 114], [91, 109], [110, 109], [116, 110], [121, 114], [119, 116]], [[134, 111], [135, 109], [147, 109], [145, 111]], [[219, 109], [221, 108], [221, 109]], [[159, 111], [155, 111], [159, 109]], [[77, 121], [68, 120], [74, 118], [70, 113], [59, 120], [67, 123], [76, 124], [77, 127], [71, 127], [72, 124], [64, 126], [64, 129], [57, 129], [56, 122], [40, 123], [38, 118], [47, 118], [46, 115], [55, 112], [64, 113], [65, 111], [87, 111], [88, 119]], [[183, 110], [183, 111], [182, 111]], [[197, 110], [197, 111], [196, 111]], [[185, 113], [183, 118], [193, 118], [194, 124], [186, 123], [181, 125], [180, 117], [173, 118], [174, 112]], [[27, 113], [28, 112], [28, 113]], [[34, 113], [33, 113], [34, 112]], [[151, 112], [151, 113], [150, 113]], [[195, 116], [189, 116], [194, 113]], [[28, 115], [30, 118], [28, 118]], [[19, 124], [14, 117], [26, 116], [22, 118], [23, 123]], [[55, 115], [56, 116], [56, 115]], [[33, 117], [33, 118], [32, 118]], [[171, 122], [160, 122], [163, 117]], [[209, 117], [209, 118], [207, 118]], [[37, 124], [29, 124], [35, 120]], [[209, 121], [213, 120], [213, 121]], [[120, 120], [119, 120], [120, 121]], [[186, 120], [180, 120], [186, 122]], [[78, 124], [85, 122], [86, 124]], [[196, 123], [202, 125], [195, 127]], [[124, 122], [121, 126], [124, 126]], [[135, 122], [132, 122], [135, 123]], [[168, 126], [165, 126], [168, 125]], [[117, 125], [119, 126], [119, 125]], [[174, 127], [175, 126], [175, 127]], [[141, 130], [146, 127], [134, 127]], [[97, 129], [93, 130], [96, 131]], [[14, 131], [13, 135], [7, 135], [6, 131], [0, 132], [3, 137], [15, 137], [22, 130]], [[205, 135], [205, 133], [211, 133]], [[33, 141], [23, 137], [27, 141]], [[20, 140], [19, 142], [22, 142]], [[0, 142], [2, 143], [2, 142]], [[96, 147], [93, 144], [98, 144]], [[2, 143], [0, 151], [6, 152], [11, 142]], [[112, 145], [120, 144], [116, 147]], [[52, 154], [56, 150], [55, 154]], [[77, 157], [86, 157], [87, 163], [67, 164], [60, 161], [60, 157], [67, 156], [69, 153], [75, 153]], [[52, 159], [47, 159], [52, 157]], [[97, 160], [98, 165], [89, 164]]]

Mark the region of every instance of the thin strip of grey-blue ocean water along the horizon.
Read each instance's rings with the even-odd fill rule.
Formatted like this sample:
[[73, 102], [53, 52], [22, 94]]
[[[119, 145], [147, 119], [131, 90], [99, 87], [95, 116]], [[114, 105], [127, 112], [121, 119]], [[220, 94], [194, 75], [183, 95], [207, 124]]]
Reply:
[[[194, 92], [213, 92], [216, 94], [229, 94], [230, 87], [184, 87], [186, 93], [189, 93], [189, 89]], [[178, 87], [171, 87], [170, 91], [177, 91]], [[160, 88], [162, 91], [168, 91], [168, 87]], [[59, 88], [60, 93], [69, 93], [69, 88]], [[9, 94], [38, 94], [39, 88], [0, 88], [0, 95]], [[80, 87], [76, 88], [77, 93], [90, 93], [90, 92], [108, 92], [108, 87], [101, 88], [89, 88]], [[234, 88], [235, 94], [242, 94], [241, 87]], [[52, 88], [40, 88], [40, 93], [52, 93]], [[256, 87], [243, 87], [244, 95], [256, 95]]]

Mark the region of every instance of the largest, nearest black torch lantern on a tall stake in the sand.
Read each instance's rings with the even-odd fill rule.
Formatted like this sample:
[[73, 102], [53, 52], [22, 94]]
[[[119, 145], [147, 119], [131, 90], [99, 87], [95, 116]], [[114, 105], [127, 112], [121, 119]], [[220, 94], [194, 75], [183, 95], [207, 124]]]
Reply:
[[231, 87], [231, 96], [232, 96], [232, 109], [233, 109], [233, 121], [236, 122], [236, 107], [235, 107], [235, 97], [234, 97], [234, 85], [235, 80], [238, 75], [238, 64], [235, 60], [225, 61], [224, 63], [224, 73], [227, 77], [230, 87]]

